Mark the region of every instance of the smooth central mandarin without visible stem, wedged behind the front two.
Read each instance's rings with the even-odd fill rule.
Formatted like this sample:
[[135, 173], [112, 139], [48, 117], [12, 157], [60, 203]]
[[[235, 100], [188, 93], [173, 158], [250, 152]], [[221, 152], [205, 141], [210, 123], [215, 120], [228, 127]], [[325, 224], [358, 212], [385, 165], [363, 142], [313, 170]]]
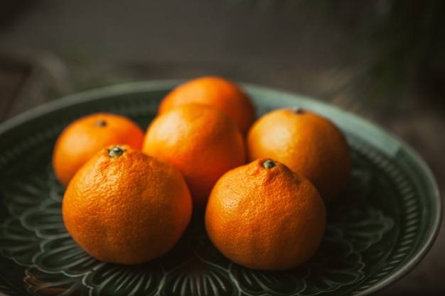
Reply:
[[144, 153], [181, 171], [195, 207], [202, 208], [218, 178], [246, 162], [240, 130], [213, 106], [186, 104], [159, 114], [147, 128]]

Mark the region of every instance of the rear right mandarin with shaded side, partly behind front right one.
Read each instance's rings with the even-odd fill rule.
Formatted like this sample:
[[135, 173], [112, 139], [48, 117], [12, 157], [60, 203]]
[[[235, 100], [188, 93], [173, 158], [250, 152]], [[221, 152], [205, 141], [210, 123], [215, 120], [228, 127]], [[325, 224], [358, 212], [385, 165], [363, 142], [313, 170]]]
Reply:
[[326, 117], [304, 109], [276, 109], [254, 122], [247, 134], [249, 160], [272, 158], [309, 179], [331, 202], [348, 182], [350, 147]]

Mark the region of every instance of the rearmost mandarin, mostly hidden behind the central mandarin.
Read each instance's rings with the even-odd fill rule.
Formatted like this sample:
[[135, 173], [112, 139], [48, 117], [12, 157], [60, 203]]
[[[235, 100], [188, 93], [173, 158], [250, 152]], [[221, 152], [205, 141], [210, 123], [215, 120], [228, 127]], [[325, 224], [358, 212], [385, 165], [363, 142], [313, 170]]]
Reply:
[[159, 114], [189, 103], [215, 106], [230, 116], [243, 134], [255, 120], [250, 97], [235, 82], [221, 77], [199, 77], [178, 85], [161, 101]]

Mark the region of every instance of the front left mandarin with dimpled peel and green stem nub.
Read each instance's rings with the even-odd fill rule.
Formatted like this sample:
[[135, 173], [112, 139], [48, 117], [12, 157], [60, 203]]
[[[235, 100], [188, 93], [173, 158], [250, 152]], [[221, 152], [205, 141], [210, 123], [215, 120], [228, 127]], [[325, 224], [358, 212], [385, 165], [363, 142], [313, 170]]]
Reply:
[[65, 227], [100, 261], [137, 264], [163, 256], [191, 220], [192, 201], [173, 165], [131, 146], [101, 149], [63, 196]]

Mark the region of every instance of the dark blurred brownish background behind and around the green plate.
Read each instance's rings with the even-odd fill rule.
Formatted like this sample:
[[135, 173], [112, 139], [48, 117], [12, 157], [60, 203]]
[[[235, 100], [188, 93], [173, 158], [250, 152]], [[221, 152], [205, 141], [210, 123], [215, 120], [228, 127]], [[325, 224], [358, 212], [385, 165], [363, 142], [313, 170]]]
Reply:
[[[392, 131], [445, 182], [445, 1], [0, 0], [0, 122], [110, 84], [221, 75]], [[443, 227], [442, 227], [443, 229]], [[379, 295], [444, 295], [445, 234]]]

